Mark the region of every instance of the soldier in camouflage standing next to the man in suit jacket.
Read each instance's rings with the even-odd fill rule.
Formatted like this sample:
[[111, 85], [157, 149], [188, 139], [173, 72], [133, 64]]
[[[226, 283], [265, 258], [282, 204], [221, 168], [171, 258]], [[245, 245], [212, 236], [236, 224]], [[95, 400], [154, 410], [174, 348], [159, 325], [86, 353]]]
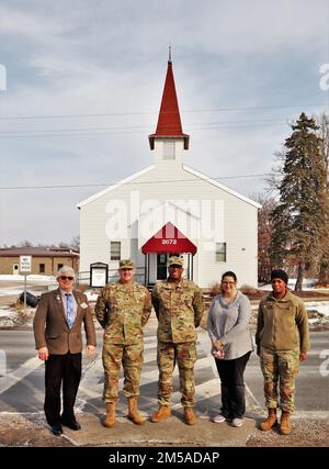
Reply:
[[106, 427], [115, 423], [121, 364], [124, 369], [123, 393], [128, 399], [128, 418], [139, 425], [145, 423], [137, 410], [137, 397], [144, 358], [143, 327], [151, 312], [151, 299], [144, 286], [133, 281], [133, 260], [121, 260], [118, 273], [120, 280], [102, 290], [95, 305], [97, 319], [104, 328], [103, 400], [106, 403]]

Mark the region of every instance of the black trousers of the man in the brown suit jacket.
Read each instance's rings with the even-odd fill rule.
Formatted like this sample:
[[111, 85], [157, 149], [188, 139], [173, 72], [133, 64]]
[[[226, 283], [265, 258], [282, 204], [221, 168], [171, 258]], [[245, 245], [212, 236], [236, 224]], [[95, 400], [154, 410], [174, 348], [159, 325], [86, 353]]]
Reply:
[[[45, 414], [50, 426], [61, 418], [73, 420], [73, 406], [81, 379], [81, 353], [49, 355], [45, 361]], [[60, 418], [60, 388], [63, 383], [63, 413]]]

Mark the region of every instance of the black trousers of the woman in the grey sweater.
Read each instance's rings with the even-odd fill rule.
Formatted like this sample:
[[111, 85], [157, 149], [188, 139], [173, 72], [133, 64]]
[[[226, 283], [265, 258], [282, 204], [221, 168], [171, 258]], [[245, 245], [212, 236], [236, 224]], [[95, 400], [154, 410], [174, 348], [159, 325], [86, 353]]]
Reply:
[[242, 418], [246, 412], [243, 372], [251, 351], [232, 360], [215, 358], [222, 381], [222, 415], [226, 418]]

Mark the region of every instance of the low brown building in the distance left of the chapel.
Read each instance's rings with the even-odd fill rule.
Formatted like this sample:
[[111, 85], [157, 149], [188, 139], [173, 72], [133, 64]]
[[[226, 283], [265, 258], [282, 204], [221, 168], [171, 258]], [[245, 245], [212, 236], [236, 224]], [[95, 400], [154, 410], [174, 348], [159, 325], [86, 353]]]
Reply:
[[34, 275], [52, 276], [63, 266], [79, 270], [79, 253], [67, 248], [5, 247], [0, 248], [0, 275], [19, 275], [20, 256], [32, 256]]

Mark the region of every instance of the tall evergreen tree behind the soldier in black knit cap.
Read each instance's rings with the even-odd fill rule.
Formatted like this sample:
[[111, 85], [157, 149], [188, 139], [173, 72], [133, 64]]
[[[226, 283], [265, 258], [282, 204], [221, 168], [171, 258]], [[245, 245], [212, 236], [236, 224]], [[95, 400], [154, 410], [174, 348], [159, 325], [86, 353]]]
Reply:
[[274, 265], [298, 266], [295, 290], [302, 290], [305, 268], [319, 263], [326, 222], [326, 165], [318, 126], [303, 112], [285, 141], [280, 201], [273, 210]]

